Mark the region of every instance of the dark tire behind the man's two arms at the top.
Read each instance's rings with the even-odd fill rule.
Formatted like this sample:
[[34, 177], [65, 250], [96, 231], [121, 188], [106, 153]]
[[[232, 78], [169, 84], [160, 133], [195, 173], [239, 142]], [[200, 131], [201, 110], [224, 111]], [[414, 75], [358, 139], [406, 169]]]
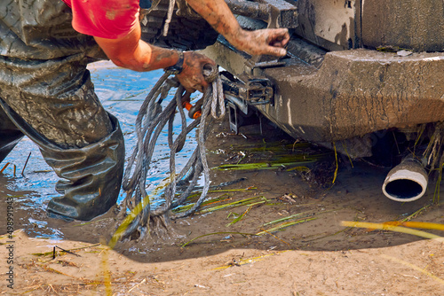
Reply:
[[[141, 20], [142, 40], [156, 46], [182, 51], [202, 50], [218, 38], [205, 19], [186, 19], [173, 12], [168, 35], [163, 36], [163, 26], [169, 1], [158, 0], [145, 12]], [[144, 12], [142, 12], [144, 13]]]

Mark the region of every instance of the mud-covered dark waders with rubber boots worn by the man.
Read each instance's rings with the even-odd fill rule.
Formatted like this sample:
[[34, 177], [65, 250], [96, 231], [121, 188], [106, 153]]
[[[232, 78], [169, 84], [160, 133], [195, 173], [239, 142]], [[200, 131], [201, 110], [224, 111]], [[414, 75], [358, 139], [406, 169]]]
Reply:
[[61, 180], [48, 212], [79, 220], [115, 205], [122, 131], [86, 69], [98, 45], [61, 0], [0, 0], [0, 161], [26, 135]]

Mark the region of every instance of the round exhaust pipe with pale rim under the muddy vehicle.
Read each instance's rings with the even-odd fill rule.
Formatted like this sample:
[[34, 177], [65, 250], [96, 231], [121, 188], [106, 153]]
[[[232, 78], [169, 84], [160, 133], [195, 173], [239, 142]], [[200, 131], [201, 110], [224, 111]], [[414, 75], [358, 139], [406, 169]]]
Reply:
[[418, 160], [408, 157], [385, 177], [383, 192], [389, 199], [408, 202], [421, 199], [429, 181], [427, 172]]

